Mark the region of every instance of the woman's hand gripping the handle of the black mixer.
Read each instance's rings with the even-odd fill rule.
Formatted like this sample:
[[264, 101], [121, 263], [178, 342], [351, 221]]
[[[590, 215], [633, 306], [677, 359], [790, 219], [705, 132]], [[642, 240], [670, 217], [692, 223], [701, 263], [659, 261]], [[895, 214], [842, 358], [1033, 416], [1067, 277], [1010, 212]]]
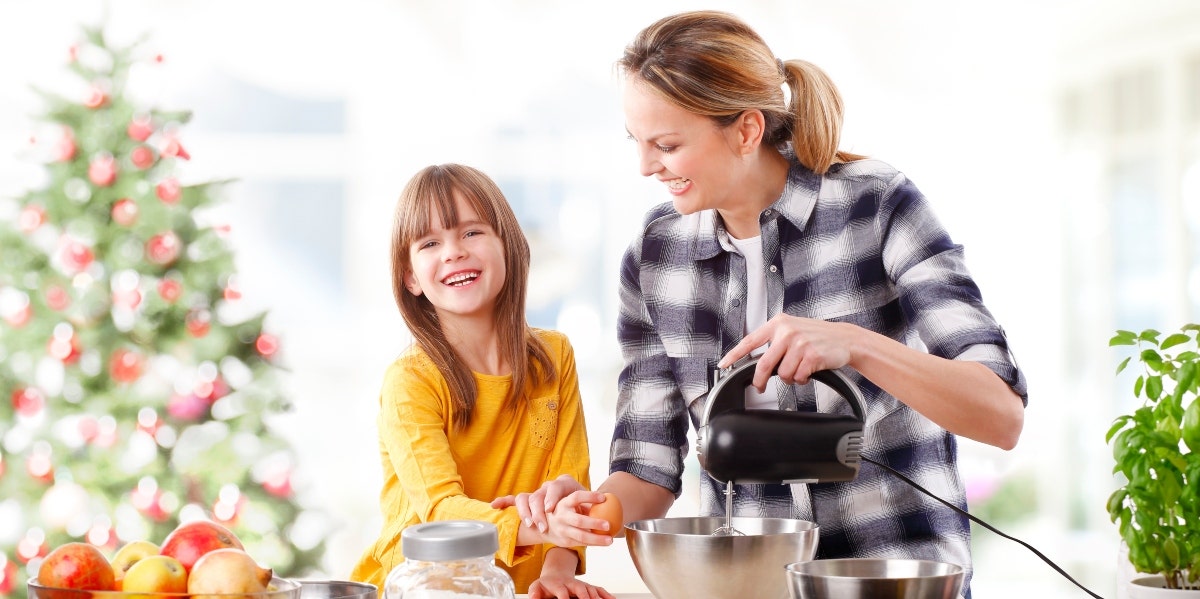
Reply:
[[718, 367], [726, 369], [767, 343], [755, 367], [754, 388], [760, 393], [766, 390], [772, 372], [785, 383], [806, 384], [818, 370], [850, 364], [854, 334], [859, 330], [853, 324], [778, 315], [733, 346]]

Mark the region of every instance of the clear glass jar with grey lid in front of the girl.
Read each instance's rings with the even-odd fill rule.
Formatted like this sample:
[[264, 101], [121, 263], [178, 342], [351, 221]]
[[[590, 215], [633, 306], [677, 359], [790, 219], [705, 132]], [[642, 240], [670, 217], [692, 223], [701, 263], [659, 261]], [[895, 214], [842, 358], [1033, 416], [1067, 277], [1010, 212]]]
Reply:
[[509, 573], [492, 557], [500, 547], [496, 525], [446, 520], [410, 526], [400, 534], [404, 562], [388, 574], [384, 599], [515, 599]]

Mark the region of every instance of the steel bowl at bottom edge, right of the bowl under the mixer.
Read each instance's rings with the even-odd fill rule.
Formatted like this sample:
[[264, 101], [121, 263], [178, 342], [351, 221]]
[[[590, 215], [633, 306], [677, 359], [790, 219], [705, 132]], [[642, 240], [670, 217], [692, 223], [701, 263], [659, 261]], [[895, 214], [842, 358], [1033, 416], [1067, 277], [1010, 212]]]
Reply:
[[787, 564], [792, 599], [956, 599], [962, 567], [926, 559], [816, 559]]

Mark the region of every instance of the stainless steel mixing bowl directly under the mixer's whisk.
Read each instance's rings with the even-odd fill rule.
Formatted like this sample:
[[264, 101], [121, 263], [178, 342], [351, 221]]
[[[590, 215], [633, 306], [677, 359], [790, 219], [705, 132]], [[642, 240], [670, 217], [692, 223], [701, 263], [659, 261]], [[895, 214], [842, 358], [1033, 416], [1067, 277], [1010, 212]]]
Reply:
[[734, 517], [743, 537], [714, 537], [724, 517], [661, 517], [625, 525], [625, 546], [656, 599], [787, 599], [790, 563], [812, 559], [817, 525]]

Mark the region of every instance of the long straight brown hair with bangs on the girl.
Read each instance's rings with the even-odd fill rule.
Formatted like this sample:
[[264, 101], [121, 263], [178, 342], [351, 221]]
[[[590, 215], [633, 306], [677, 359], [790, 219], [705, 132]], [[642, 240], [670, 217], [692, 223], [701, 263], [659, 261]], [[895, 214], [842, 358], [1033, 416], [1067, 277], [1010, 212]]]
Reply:
[[456, 194], [475, 209], [504, 245], [508, 275], [496, 298], [496, 328], [500, 353], [512, 370], [512, 387], [505, 407], [516, 411], [518, 402], [527, 400], [524, 389], [529, 382], [551, 381], [556, 372], [548, 351], [534, 336], [524, 317], [529, 242], [504, 193], [491, 178], [475, 168], [463, 164], [425, 167], [413, 175], [396, 203], [391, 234], [391, 288], [416, 343], [433, 360], [450, 387], [451, 401], [458, 408], [455, 426], [466, 429], [478, 396], [474, 375], [446, 340], [428, 298], [413, 295], [404, 287], [404, 274], [413, 268], [409, 246], [430, 232], [434, 217], [440, 218], [443, 228], [458, 224]]

